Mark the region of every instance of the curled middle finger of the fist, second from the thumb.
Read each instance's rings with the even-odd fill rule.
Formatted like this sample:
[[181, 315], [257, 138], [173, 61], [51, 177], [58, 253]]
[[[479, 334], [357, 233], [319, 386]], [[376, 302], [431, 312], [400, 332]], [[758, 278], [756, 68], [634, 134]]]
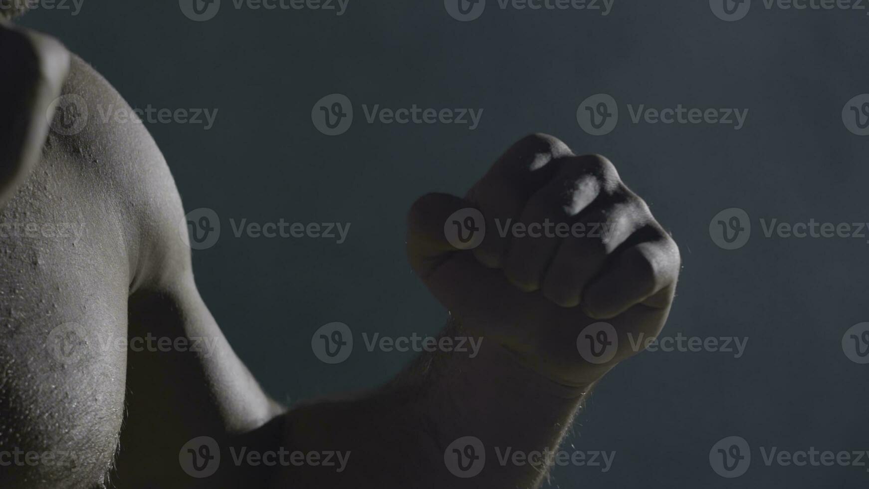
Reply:
[[[528, 200], [510, 237], [504, 272], [516, 287], [541, 287], [547, 266], [580, 215], [600, 195], [600, 179], [589, 171], [594, 156], [563, 158], [551, 182]], [[513, 227], [511, 227], [512, 229]]]

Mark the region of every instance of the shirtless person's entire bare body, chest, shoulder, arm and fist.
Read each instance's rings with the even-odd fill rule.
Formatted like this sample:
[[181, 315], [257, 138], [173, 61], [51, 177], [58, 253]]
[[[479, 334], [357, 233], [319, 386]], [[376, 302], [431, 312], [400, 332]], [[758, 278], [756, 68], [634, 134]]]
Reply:
[[[0, 54], [3, 97], [26, 101], [15, 119], [0, 113], [3, 127], [44, 119], [62, 94], [128, 107], [76, 56], [65, 76], [58, 44], [8, 24], [0, 36], [32, 47]], [[426, 195], [408, 215], [408, 257], [450, 311], [445, 334], [484, 338], [479, 356], [423, 354], [387, 386], [287, 409], [262, 392], [202, 302], [178, 235], [182, 202], [147, 129], [90, 121], [62, 135], [47, 124], [0, 133], [0, 163], [11, 169], [0, 180], [0, 222], [75, 223], [79, 233], [0, 233], [0, 453], [69, 451], [76, 464], [5, 466], [2, 487], [100, 487], [107, 474], [116, 487], [536, 487], [545, 467], [491, 464], [461, 479], [445, 450], [465, 436], [488, 449], [557, 446], [588, 391], [636, 353], [620, 347], [589, 363], [577, 354], [580, 331], [606, 320], [627, 346], [628, 332], [658, 334], [673, 301], [678, 248], [612, 163], [531, 135], [464, 198]], [[490, 229], [474, 251], [444, 235], [462, 208], [480, 209]], [[613, 233], [501, 238], [496, 217], [604, 222]], [[218, 347], [210, 356], [102, 348], [63, 364], [46, 339], [66, 323], [88, 338], [205, 337]], [[179, 450], [203, 435], [224, 461], [196, 479]], [[351, 455], [342, 472], [236, 466], [229, 446]]]

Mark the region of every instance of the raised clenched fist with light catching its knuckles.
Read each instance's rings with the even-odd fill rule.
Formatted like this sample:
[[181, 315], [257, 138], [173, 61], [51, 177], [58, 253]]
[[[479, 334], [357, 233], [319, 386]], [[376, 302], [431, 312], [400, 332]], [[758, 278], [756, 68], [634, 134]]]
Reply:
[[464, 199], [415, 202], [408, 256], [461, 327], [580, 389], [657, 336], [680, 269], [613, 163], [549, 135], [514, 144]]

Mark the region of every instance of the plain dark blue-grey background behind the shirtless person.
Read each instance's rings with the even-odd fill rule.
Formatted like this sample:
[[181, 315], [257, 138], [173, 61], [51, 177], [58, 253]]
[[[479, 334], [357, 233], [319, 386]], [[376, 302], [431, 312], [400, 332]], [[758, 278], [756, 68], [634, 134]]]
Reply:
[[[614, 450], [613, 469], [567, 467], [554, 486], [858, 487], [865, 467], [764, 466], [759, 446], [869, 449], [869, 365], [842, 334], [869, 320], [866, 239], [766, 239], [759, 219], [869, 221], [869, 138], [840, 112], [869, 92], [863, 11], [766, 10], [725, 23], [706, 1], [616, 0], [585, 10], [500, 10], [471, 23], [439, 0], [350, 0], [347, 13], [235, 10], [195, 23], [174, 0], [85, 0], [76, 16], [23, 23], [60, 37], [133, 107], [219, 109], [216, 125], [152, 124], [185, 208], [213, 208], [223, 235], [194, 253], [205, 301], [263, 386], [282, 400], [374, 386], [410, 354], [357, 347], [328, 366], [311, 334], [434, 334], [445, 311], [411, 274], [404, 215], [428, 191], [463, 194], [522, 135], [543, 131], [607, 155], [680, 244], [679, 296], [664, 334], [748, 336], [746, 354], [644, 353], [600, 385], [569, 442]], [[356, 120], [327, 137], [322, 96]], [[634, 125], [594, 137], [578, 104], [605, 92], [657, 108], [750, 109], [746, 127]], [[362, 103], [485, 109], [481, 126], [369, 125]], [[708, 233], [743, 208], [753, 235], [726, 251]], [[342, 245], [236, 239], [229, 218], [349, 221]], [[357, 341], [361, 341], [359, 336]], [[389, 429], [384, 426], [384, 429]], [[521, 426], [517, 426], [521, 429]], [[744, 437], [740, 479], [710, 468], [713, 444]], [[569, 446], [569, 443], [568, 443]]]

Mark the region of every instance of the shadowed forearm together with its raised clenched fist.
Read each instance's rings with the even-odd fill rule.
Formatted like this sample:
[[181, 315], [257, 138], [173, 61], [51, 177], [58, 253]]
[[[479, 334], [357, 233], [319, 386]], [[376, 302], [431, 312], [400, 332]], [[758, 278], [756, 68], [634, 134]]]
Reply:
[[[468, 208], [486, 221], [481, 242]], [[525, 232], [499, 233], [508, 219]], [[572, 231], [547, 233], [547, 220]], [[637, 353], [627, 334], [658, 334], [678, 248], [612, 163], [545, 135], [509, 149], [466, 199], [422, 197], [408, 227], [411, 265], [453, 314], [444, 334], [482, 339], [481, 354], [424, 355], [374, 393], [297, 407], [289, 446], [352, 453], [342, 472], [289, 467], [279, 486], [539, 486], [545, 464], [504, 454], [555, 449], [594, 383]]]

